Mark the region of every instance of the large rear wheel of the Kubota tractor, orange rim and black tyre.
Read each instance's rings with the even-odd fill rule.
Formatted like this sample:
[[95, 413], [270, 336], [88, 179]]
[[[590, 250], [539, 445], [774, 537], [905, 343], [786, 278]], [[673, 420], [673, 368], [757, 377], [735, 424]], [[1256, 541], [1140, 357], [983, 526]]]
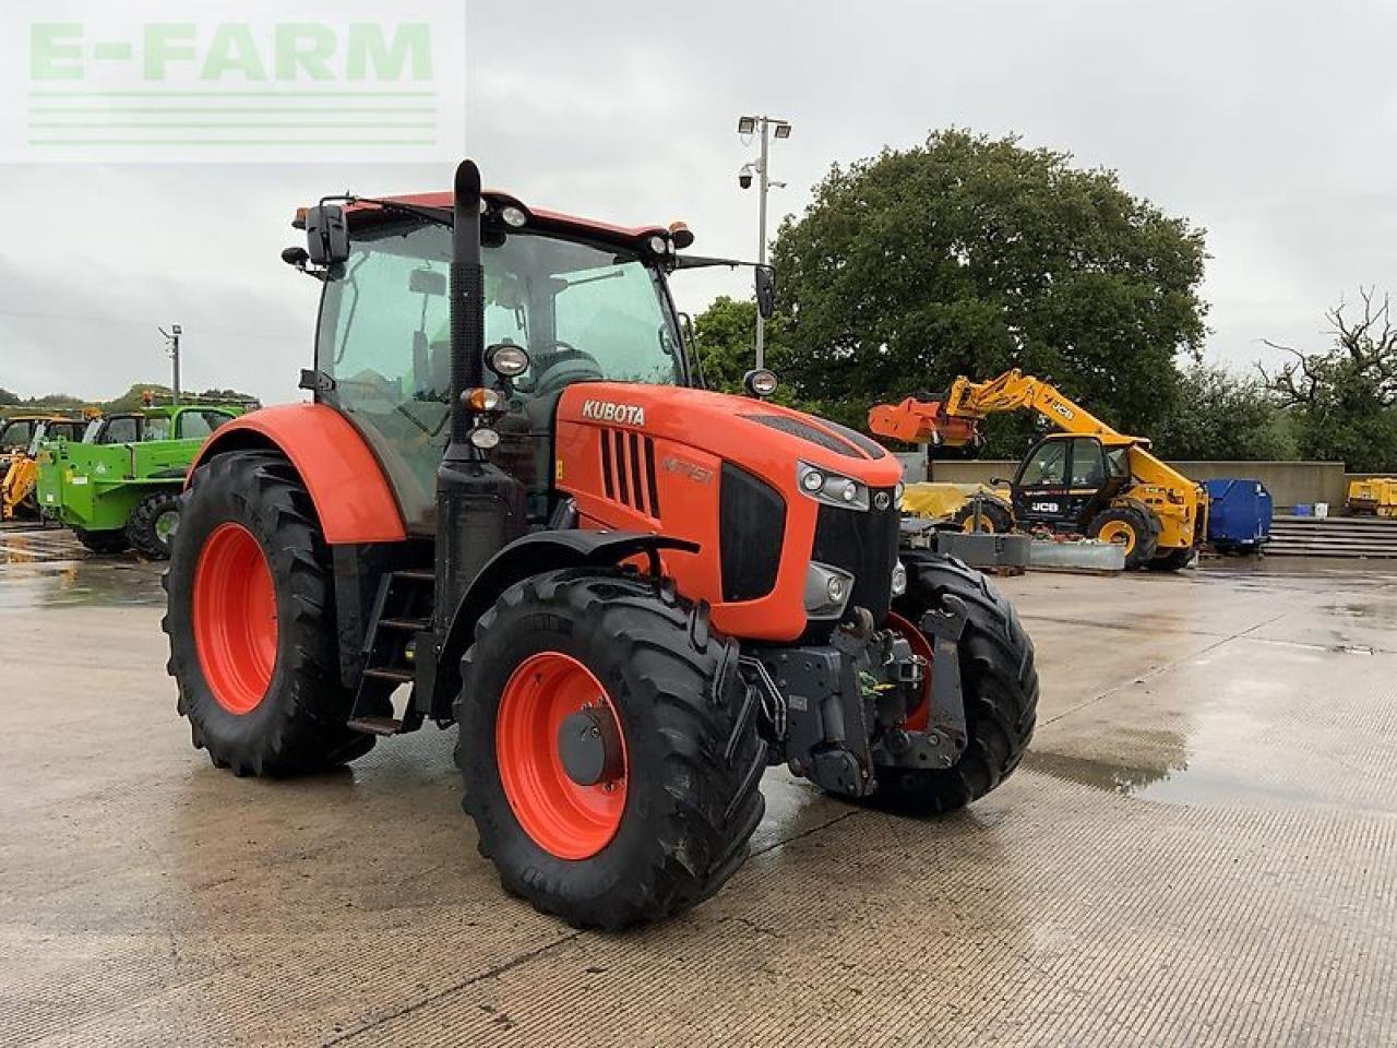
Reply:
[[284, 458], [236, 451], [194, 471], [163, 581], [166, 668], [215, 766], [289, 776], [373, 746], [345, 727], [330, 553]]

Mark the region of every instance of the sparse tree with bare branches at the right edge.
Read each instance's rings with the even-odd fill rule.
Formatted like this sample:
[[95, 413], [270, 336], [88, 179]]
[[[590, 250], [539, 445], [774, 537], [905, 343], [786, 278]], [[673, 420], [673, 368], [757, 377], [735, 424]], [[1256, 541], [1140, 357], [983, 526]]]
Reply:
[[[1359, 288], [1361, 306], [1340, 299], [1326, 313], [1333, 342], [1291, 356], [1280, 369], [1260, 367], [1263, 381], [1294, 416], [1299, 453], [1345, 463], [1358, 472], [1397, 468], [1397, 328], [1389, 296]], [[1361, 316], [1359, 316], [1361, 313]]]

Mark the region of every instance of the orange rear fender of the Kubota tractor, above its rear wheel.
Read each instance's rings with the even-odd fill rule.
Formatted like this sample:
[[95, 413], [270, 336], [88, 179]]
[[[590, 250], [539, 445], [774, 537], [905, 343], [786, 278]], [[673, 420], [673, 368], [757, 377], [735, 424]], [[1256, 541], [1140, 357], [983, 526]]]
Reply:
[[383, 467], [339, 412], [323, 404], [282, 404], [240, 415], [204, 442], [189, 476], [214, 456], [253, 449], [281, 451], [296, 467], [330, 545], [407, 539]]

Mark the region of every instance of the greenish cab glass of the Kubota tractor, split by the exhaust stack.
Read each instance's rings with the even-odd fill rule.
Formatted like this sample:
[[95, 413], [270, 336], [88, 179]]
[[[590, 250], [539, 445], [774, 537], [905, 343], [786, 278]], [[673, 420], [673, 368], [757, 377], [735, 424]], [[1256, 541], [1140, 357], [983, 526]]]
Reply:
[[[510, 386], [496, 458], [541, 495], [557, 394], [577, 381], [685, 384], [679, 333], [661, 275], [634, 252], [521, 231], [489, 233], [481, 254], [485, 344], [521, 345], [531, 361]], [[332, 379], [321, 400], [373, 444], [416, 530], [433, 525], [450, 429], [450, 259], [446, 226], [356, 231], [326, 281], [317, 334], [316, 367]]]

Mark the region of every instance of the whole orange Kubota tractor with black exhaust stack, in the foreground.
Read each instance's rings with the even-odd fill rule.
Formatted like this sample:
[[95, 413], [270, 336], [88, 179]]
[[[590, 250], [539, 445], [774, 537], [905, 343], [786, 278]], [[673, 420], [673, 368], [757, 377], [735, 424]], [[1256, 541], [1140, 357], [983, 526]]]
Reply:
[[687, 229], [534, 210], [469, 161], [451, 193], [298, 224], [314, 402], [208, 440], [166, 576], [214, 764], [313, 771], [458, 725], [504, 886], [602, 928], [715, 891], [771, 764], [914, 810], [1013, 771], [1038, 682], [1011, 609], [900, 555], [880, 446], [701, 388], [668, 275], [722, 260], [680, 254]]

